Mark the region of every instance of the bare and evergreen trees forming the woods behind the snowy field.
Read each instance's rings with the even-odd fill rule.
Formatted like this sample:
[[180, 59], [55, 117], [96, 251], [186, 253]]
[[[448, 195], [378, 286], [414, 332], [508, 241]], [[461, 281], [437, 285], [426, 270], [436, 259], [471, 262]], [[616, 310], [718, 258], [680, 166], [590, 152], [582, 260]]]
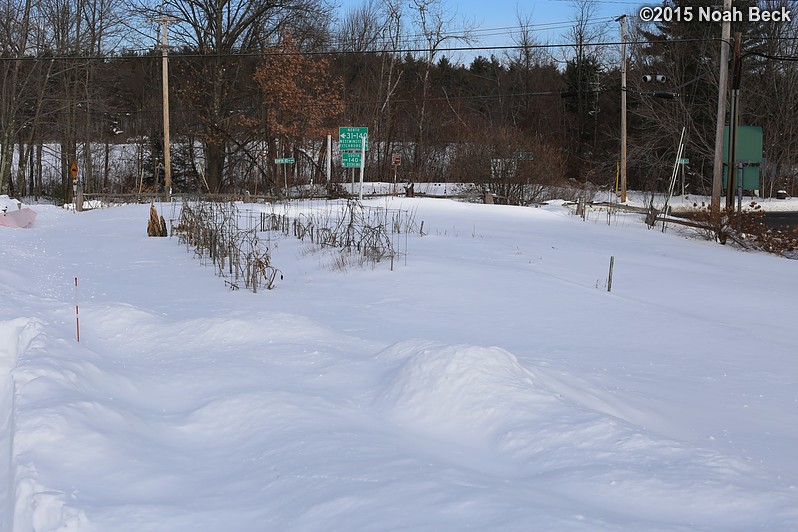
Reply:
[[[798, 13], [794, 1], [749, 3]], [[162, 189], [156, 28], [170, 45], [175, 191], [281, 194], [324, 183], [326, 136], [339, 126], [369, 128], [374, 180], [473, 182], [514, 203], [549, 186], [615, 187], [619, 27], [592, 0], [573, 2], [565, 44], [541, 42], [519, 12], [510, 45], [488, 53], [443, 0], [364, 0], [338, 17], [324, 0], [9, 0], [0, 9], [0, 193], [66, 199], [73, 162], [87, 192]], [[685, 128], [687, 190], [708, 194], [720, 25], [628, 20], [629, 187], [663, 189]], [[761, 188], [793, 194], [796, 29], [734, 28], [740, 123], [764, 131]], [[333, 180], [348, 180], [335, 146], [334, 155]]]

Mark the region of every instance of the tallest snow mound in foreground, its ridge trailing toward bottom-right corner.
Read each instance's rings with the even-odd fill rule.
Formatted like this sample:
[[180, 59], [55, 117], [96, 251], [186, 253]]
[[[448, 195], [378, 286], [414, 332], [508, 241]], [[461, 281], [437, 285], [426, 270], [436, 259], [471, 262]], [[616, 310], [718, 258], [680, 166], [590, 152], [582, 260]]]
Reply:
[[524, 479], [608, 517], [648, 522], [641, 529], [745, 529], [772, 516], [785, 526], [798, 518], [793, 486], [774, 493], [768, 475], [744, 460], [607, 414], [635, 409], [567, 374], [525, 368], [504, 349], [409, 341], [380, 358], [393, 366], [379, 397], [387, 417], [453, 466]]

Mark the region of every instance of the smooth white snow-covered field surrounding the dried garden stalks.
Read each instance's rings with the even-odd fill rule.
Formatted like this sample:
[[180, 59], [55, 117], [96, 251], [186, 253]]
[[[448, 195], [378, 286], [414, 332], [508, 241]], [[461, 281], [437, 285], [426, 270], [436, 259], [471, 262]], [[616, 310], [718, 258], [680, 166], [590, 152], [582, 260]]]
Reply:
[[0, 529], [798, 529], [798, 261], [366, 203], [424, 223], [393, 271], [274, 235], [257, 294], [148, 205], [0, 230]]

